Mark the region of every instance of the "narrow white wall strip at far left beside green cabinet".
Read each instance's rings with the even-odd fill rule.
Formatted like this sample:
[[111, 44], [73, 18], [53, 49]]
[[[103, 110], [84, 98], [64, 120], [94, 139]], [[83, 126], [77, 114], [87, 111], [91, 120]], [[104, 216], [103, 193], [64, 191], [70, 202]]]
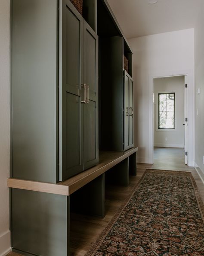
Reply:
[[0, 256], [10, 250], [9, 231], [9, 0], [0, 0]]

